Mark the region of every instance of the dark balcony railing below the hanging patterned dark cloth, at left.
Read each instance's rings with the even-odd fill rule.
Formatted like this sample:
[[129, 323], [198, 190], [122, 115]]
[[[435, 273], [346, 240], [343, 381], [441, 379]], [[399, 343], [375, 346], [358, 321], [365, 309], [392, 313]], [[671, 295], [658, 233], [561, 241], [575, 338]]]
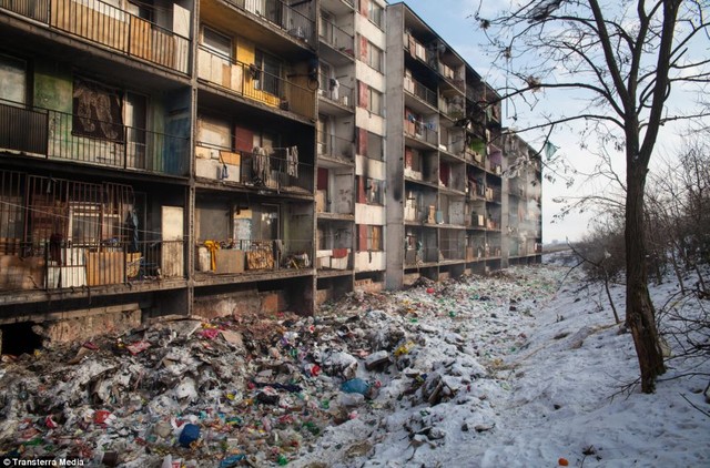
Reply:
[[0, 150], [160, 174], [187, 173], [187, 138], [7, 102], [0, 102]]

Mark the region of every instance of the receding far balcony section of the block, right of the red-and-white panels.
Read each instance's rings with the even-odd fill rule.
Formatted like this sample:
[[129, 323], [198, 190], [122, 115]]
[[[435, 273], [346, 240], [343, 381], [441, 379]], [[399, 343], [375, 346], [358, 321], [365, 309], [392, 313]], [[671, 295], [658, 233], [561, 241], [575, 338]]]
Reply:
[[508, 265], [500, 96], [405, 3], [386, 53], [387, 287]]

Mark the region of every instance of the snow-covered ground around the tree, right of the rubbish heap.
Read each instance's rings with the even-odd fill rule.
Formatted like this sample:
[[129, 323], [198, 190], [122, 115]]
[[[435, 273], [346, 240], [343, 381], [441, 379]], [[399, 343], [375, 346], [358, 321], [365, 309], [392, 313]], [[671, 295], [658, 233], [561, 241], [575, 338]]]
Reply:
[[[584, 287], [572, 273], [560, 286], [568, 271], [515, 268], [432, 294], [397, 293], [388, 316], [402, 305], [417, 314], [398, 321], [416, 343], [402, 355], [408, 366], [383, 375], [369, 408], [327, 429], [293, 466], [710, 466], [710, 417], [691, 406], [710, 410], [708, 356], [670, 360], [653, 395], [628, 387], [638, 376], [630, 334], [615, 324], [600, 285]], [[672, 282], [652, 291], [659, 306], [678, 299]], [[612, 289], [621, 314], [622, 294]], [[693, 298], [674, 306], [710, 309]], [[403, 397], [416, 373], [443, 376], [450, 399]], [[689, 373], [704, 375], [679, 377]]]

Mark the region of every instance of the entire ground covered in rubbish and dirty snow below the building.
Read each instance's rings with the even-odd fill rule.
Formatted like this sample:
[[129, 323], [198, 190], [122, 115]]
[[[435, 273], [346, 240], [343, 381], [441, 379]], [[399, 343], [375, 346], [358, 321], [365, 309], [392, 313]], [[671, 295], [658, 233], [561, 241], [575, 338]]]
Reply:
[[[710, 466], [707, 356], [681, 359], [687, 343], [669, 339], [669, 372], [641, 394], [631, 336], [601, 286], [568, 272], [422, 281], [315, 321], [185, 321], [92, 353], [3, 359], [0, 452], [125, 467]], [[622, 287], [612, 295], [622, 311]], [[672, 281], [653, 297], [676, 315], [710, 308]], [[152, 346], [132, 355], [118, 338]], [[201, 439], [181, 447], [187, 424]]]

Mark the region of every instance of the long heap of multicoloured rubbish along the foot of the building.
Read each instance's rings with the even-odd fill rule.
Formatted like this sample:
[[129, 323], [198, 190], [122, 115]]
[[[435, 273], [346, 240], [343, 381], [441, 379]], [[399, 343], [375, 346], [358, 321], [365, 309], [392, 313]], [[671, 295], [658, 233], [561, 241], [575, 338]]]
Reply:
[[[2, 356], [0, 457], [302, 466], [334, 427], [376, 425], [398, 405], [433, 407], [494, 378], [501, 357], [526, 340], [498, 317], [530, 318], [540, 293], [555, 291], [552, 275], [535, 272], [352, 293], [317, 317], [169, 316], [121, 335]], [[444, 434], [422, 415], [399, 423], [413, 441], [436, 444]], [[362, 457], [369, 448], [334, 452]]]

